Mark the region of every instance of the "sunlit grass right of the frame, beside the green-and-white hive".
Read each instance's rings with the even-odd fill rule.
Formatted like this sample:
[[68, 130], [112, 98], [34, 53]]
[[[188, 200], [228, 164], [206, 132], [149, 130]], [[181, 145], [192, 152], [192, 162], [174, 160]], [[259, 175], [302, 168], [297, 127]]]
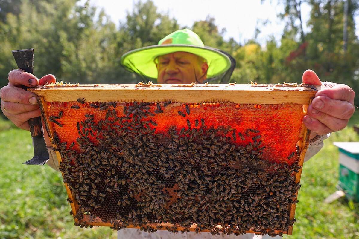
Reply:
[[359, 238], [358, 204], [345, 199], [324, 202], [337, 190], [339, 150], [332, 144], [336, 141], [359, 141], [359, 135], [351, 127], [332, 133], [323, 149], [304, 163], [293, 236], [283, 238]]

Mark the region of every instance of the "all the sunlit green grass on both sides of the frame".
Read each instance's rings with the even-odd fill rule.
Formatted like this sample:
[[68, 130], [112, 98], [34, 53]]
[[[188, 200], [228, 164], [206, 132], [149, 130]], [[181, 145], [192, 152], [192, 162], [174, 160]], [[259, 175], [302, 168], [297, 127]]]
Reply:
[[[74, 226], [61, 174], [47, 166], [23, 165], [33, 156], [30, 133], [2, 120], [0, 125], [5, 125], [0, 131], [1, 239], [116, 238], [116, 231], [107, 227]], [[345, 199], [323, 202], [337, 190], [335, 141], [359, 141], [359, 136], [351, 127], [333, 133], [320, 153], [304, 164], [295, 212], [297, 222], [293, 235], [284, 235], [284, 239], [359, 238], [358, 203]]]

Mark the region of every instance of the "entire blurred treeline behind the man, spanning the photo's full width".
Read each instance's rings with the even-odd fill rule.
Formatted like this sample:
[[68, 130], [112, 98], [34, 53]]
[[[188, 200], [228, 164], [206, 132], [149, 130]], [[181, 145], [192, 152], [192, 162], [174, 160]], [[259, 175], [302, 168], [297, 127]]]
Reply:
[[[165, 35], [185, 27], [159, 13], [150, 0], [134, 3], [119, 27], [104, 11], [76, 3], [0, 0], [0, 87], [7, 84], [9, 71], [17, 68], [11, 50], [27, 48], [34, 48], [38, 77], [51, 73], [71, 83], [137, 83], [142, 79], [120, 66], [121, 55], [157, 44]], [[306, 30], [301, 17], [303, 3], [311, 8]], [[225, 40], [225, 29], [218, 29], [210, 16], [186, 27], [199, 34], [205, 45], [232, 54], [237, 66], [231, 82], [300, 83], [303, 71], [312, 69], [322, 81], [345, 83], [358, 91], [359, 40], [353, 20], [358, 2], [278, 0], [272, 4], [284, 5], [278, 16], [286, 24], [280, 42], [274, 37], [264, 46], [255, 37], [244, 44], [233, 38]], [[358, 96], [355, 103], [359, 105]]]

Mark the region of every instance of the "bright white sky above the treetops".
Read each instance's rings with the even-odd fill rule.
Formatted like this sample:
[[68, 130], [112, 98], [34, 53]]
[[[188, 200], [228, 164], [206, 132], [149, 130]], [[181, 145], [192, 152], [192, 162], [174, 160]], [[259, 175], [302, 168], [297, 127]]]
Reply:
[[[145, 2], [146, 0], [142, 0]], [[234, 38], [238, 43], [245, 43], [253, 39], [255, 29], [261, 33], [258, 41], [265, 44], [271, 35], [279, 40], [283, 32], [284, 23], [278, 18], [283, 12], [283, 5], [277, 0], [152, 0], [159, 13], [168, 13], [175, 18], [180, 27], [192, 27], [194, 21], [205, 20], [209, 15], [215, 19], [215, 24], [221, 30], [226, 29], [224, 39]], [[80, 4], [86, 0], [80, 1]], [[134, 3], [138, 0], [89, 0], [90, 5], [104, 8], [106, 14], [118, 25], [125, 22], [127, 11], [132, 12]], [[309, 18], [310, 8], [302, 6], [302, 18]], [[359, 35], [359, 16], [356, 17], [356, 35]], [[306, 25], [304, 25], [306, 29]]]

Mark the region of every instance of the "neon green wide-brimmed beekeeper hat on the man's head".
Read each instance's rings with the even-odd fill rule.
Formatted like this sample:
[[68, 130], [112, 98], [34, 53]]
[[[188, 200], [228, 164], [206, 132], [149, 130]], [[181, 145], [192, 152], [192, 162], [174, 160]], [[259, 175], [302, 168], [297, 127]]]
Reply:
[[158, 45], [142, 47], [123, 54], [121, 65], [138, 74], [157, 78], [154, 60], [158, 56], [173, 52], [189, 52], [205, 58], [208, 63], [208, 78], [223, 74], [231, 64], [227, 55], [216, 48], [204, 46], [196, 33], [183, 29], [167, 35]]

